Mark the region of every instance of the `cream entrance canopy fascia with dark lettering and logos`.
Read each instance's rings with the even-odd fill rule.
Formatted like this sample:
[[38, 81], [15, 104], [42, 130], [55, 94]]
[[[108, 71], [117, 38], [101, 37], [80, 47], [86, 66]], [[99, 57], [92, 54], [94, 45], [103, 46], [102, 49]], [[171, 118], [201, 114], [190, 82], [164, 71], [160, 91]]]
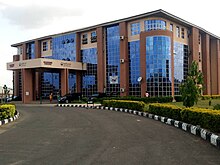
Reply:
[[86, 63], [54, 60], [48, 58], [37, 58], [37, 59], [14, 61], [7, 63], [7, 70], [34, 69], [34, 68], [86, 70]]

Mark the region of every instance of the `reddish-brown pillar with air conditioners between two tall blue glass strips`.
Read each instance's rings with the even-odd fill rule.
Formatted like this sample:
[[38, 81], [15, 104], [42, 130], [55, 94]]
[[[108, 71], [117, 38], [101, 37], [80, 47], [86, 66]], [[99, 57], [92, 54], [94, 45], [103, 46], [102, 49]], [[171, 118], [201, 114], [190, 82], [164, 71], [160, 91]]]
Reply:
[[124, 92], [120, 92], [120, 96], [129, 95], [129, 59], [128, 59], [128, 32], [127, 23], [119, 24], [120, 28], [120, 88], [124, 88]]

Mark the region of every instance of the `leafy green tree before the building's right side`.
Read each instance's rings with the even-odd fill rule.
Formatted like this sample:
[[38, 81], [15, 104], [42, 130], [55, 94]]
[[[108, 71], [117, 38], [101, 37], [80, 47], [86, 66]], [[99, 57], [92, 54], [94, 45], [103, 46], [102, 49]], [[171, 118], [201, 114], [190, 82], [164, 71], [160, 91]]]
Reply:
[[203, 74], [198, 69], [198, 63], [192, 62], [186, 81], [181, 84], [180, 92], [183, 97], [183, 105], [192, 107], [198, 102], [203, 89]]

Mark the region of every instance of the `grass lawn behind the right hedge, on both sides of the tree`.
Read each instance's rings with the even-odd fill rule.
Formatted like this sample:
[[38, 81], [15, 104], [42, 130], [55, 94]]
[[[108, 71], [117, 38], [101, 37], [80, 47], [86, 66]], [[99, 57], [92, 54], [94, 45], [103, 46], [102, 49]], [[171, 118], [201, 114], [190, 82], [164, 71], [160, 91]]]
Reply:
[[[169, 104], [176, 105], [178, 107], [184, 107], [183, 102], [175, 102]], [[211, 106], [209, 106], [209, 100], [199, 100], [198, 103], [195, 104], [193, 107], [213, 109], [213, 106], [216, 104], [220, 104], [220, 99], [212, 99]]]

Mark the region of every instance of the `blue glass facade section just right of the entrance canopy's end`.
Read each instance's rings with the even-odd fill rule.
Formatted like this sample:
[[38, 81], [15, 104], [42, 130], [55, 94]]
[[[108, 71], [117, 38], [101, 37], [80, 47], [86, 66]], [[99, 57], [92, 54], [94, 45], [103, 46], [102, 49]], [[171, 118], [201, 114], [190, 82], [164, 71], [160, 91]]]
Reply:
[[82, 76], [82, 94], [91, 96], [97, 93], [97, 48], [81, 50], [82, 62], [87, 63], [87, 71]]

